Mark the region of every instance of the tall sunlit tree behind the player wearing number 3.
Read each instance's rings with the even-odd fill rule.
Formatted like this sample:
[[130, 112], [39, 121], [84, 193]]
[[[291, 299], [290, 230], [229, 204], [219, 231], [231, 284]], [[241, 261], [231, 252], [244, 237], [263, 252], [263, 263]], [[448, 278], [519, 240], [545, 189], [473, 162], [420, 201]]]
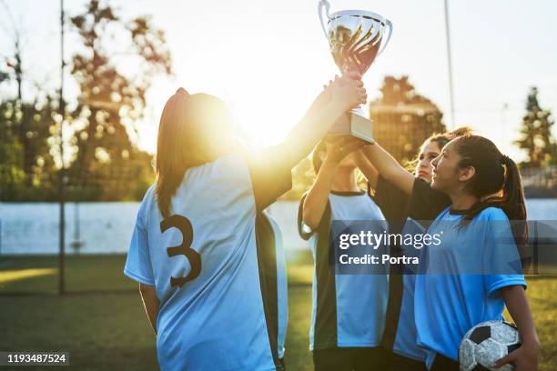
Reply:
[[[129, 133], [137, 134], [152, 78], [172, 74], [165, 35], [148, 17], [127, 21], [97, 0], [70, 22], [84, 46], [72, 58], [80, 94], [68, 113], [76, 153], [70, 183], [87, 188], [93, 198], [127, 198], [127, 182], [139, 179], [147, 189], [152, 176], [150, 156], [137, 149]], [[102, 192], [101, 179], [110, 181]]]

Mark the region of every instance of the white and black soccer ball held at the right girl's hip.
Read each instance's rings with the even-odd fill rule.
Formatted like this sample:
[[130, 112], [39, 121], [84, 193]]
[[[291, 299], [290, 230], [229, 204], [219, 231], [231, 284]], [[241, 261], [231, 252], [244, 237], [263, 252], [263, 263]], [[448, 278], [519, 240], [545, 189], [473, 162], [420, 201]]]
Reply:
[[459, 346], [461, 371], [510, 371], [514, 366], [493, 368], [497, 360], [521, 346], [516, 326], [504, 321], [487, 321], [473, 326]]

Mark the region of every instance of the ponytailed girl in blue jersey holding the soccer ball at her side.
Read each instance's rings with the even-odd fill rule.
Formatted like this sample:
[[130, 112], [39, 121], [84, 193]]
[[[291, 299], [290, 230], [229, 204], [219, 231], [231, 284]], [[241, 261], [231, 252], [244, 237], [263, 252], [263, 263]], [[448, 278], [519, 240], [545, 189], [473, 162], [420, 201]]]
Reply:
[[501, 269], [520, 262], [510, 223], [526, 219], [516, 164], [480, 135], [453, 139], [431, 164], [431, 187], [449, 196], [451, 206], [428, 230], [442, 231], [442, 244], [425, 251], [427, 272], [416, 280], [418, 345], [426, 349], [428, 368], [458, 370], [462, 336], [481, 322], [501, 320], [507, 306], [522, 346], [494, 366], [536, 370], [539, 340], [524, 276], [511, 266]]

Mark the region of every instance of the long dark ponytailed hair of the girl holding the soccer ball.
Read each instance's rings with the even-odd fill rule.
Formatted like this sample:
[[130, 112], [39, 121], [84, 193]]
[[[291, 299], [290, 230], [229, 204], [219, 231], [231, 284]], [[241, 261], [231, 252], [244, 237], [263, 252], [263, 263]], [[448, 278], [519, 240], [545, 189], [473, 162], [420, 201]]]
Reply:
[[[461, 156], [459, 167], [474, 167], [475, 174], [467, 190], [480, 198], [462, 220], [463, 225], [487, 207], [499, 207], [511, 221], [526, 220], [526, 204], [522, 178], [512, 159], [501, 154], [491, 140], [480, 135], [464, 135], [454, 139], [455, 151]], [[525, 224], [519, 223], [519, 225]], [[519, 233], [522, 237], [526, 231]], [[515, 234], [515, 238], [517, 235]]]

